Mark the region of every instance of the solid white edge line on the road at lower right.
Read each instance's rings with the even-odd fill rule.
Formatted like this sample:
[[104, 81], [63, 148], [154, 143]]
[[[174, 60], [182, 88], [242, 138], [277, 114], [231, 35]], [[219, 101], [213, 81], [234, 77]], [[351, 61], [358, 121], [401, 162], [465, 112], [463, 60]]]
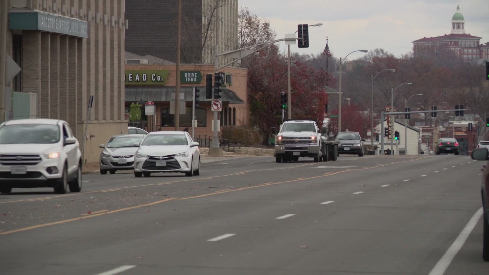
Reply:
[[458, 237], [455, 239], [455, 241], [452, 243], [452, 245], [448, 248], [448, 250], [445, 252], [445, 255], [438, 261], [436, 266], [431, 270], [429, 275], [443, 275], [452, 262], [453, 258], [457, 253], [460, 251], [462, 246], [464, 245], [465, 241], [467, 240], [468, 236], [470, 235], [470, 232], [472, 232], [472, 229], [477, 225], [477, 222], [481, 218], [483, 213], [482, 207], [475, 212], [475, 214], [472, 216], [470, 221], [468, 221], [467, 225], [465, 228], [460, 232]]

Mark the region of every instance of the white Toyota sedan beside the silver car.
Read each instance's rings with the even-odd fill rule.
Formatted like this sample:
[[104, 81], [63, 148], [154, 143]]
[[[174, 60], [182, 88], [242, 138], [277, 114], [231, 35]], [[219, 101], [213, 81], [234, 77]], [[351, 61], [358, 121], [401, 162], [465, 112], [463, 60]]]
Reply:
[[135, 154], [134, 177], [151, 173], [185, 173], [200, 175], [199, 143], [187, 132], [151, 132], [138, 146]]

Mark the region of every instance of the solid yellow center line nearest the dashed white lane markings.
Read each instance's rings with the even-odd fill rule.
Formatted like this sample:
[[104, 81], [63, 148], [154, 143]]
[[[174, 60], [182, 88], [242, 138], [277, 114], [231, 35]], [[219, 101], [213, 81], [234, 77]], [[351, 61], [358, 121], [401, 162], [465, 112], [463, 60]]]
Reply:
[[[402, 162], [409, 162], [409, 161], [414, 161], [414, 160], [422, 160], [422, 159], [425, 159], [425, 158], [428, 158], [428, 157], [422, 157], [422, 158], [417, 158], [417, 159], [413, 159], [413, 160], [403, 160], [403, 161], [398, 161], [398, 162], [394, 162], [394, 163], [402, 163]], [[92, 218], [92, 217], [98, 217], [98, 216], [102, 216], [102, 215], [106, 215], [106, 214], [117, 213], [117, 212], [121, 212], [121, 211], [135, 209], [135, 208], [157, 205], [157, 204], [168, 202], [168, 201], [172, 201], [172, 200], [197, 199], [197, 198], [203, 198], [203, 197], [207, 197], [207, 196], [213, 196], [213, 195], [218, 195], [218, 194], [223, 194], [223, 193], [228, 193], [228, 192], [242, 191], [242, 190], [247, 190], [247, 189], [252, 189], [252, 188], [257, 188], [257, 187], [262, 187], [262, 186], [269, 186], [269, 185], [275, 185], [275, 184], [281, 184], [281, 183], [292, 183], [292, 182], [298, 182], [298, 181], [305, 181], [305, 180], [311, 180], [311, 179], [329, 177], [329, 176], [333, 176], [333, 175], [336, 175], [336, 174], [346, 173], [346, 172], [349, 172], [349, 171], [358, 171], [358, 170], [366, 170], [366, 169], [378, 168], [378, 167], [382, 167], [382, 166], [386, 166], [386, 165], [391, 165], [391, 164], [394, 164], [394, 163], [386, 163], [386, 164], [379, 164], [379, 165], [376, 165], [376, 166], [365, 167], [365, 168], [356, 168], [356, 169], [343, 170], [343, 171], [338, 171], [338, 172], [330, 173], [328, 175], [314, 176], [314, 177], [309, 177], [309, 178], [305, 178], [305, 179], [301, 179], [301, 180], [290, 180], [290, 181], [278, 182], [278, 183], [263, 183], [263, 184], [260, 184], [260, 185], [248, 186], [248, 187], [237, 188], [237, 189], [232, 189], [232, 190], [221, 190], [221, 191], [217, 191], [217, 192], [214, 192], [214, 193], [204, 194], [204, 195], [198, 195], [198, 196], [193, 196], [193, 197], [165, 199], [165, 200], [156, 201], [156, 202], [145, 204], [145, 205], [120, 208], [120, 209], [112, 210], [112, 211], [109, 211], [109, 212], [98, 213], [98, 214], [91, 214], [91, 215], [87, 215], [87, 216], [84, 216], [84, 217], [77, 217], [77, 218], [72, 218], [72, 219], [57, 221], [57, 222], [53, 222], [53, 223], [41, 224], [41, 225], [36, 225], [36, 226], [30, 226], [30, 227], [25, 227], [25, 228], [20, 228], [20, 229], [14, 229], [14, 230], [10, 230], [10, 231], [0, 232], [0, 235], [6, 235], [6, 234], [11, 234], [11, 233], [16, 233], [16, 232], [26, 231], [26, 230], [30, 230], [30, 229], [37, 229], [37, 228], [42, 228], [42, 227], [46, 227], [46, 226], [52, 226], [52, 225], [69, 223], [69, 222], [73, 222], [73, 221], [88, 219], [88, 218]], [[149, 184], [149, 185], [155, 185], [155, 184]]]

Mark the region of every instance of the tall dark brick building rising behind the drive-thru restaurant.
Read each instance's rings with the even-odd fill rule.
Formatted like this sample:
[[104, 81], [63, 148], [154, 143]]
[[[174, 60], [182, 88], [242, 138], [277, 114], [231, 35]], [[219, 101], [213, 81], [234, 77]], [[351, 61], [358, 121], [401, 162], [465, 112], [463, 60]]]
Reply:
[[[222, 3], [222, 6], [216, 9], [216, 3]], [[126, 0], [129, 22], [126, 50], [176, 62], [177, 10], [177, 0]], [[238, 0], [182, 1], [182, 63], [214, 63], [216, 21], [219, 23], [219, 51], [235, 49], [238, 45]], [[222, 59], [220, 63], [224, 61]]]

